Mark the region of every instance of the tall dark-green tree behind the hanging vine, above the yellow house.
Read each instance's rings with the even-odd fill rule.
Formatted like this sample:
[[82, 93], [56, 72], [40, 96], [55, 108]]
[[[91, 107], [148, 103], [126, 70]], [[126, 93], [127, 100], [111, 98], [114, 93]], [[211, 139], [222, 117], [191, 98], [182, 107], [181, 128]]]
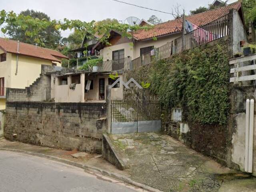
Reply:
[[[23, 15], [25, 17], [30, 16], [34, 19], [39, 20], [46, 20], [50, 22], [50, 17], [43, 13], [38, 12], [34, 10], [25, 10], [20, 12], [19, 15]], [[21, 26], [17, 26], [14, 23], [8, 23], [7, 27], [7, 34], [10, 36], [13, 40], [19, 40], [21, 42], [29, 43], [29, 44], [35, 44], [34, 38], [28, 37], [26, 33], [31, 32], [31, 26], [28, 28], [22, 28]], [[54, 25], [49, 25], [48, 27], [44, 28], [44, 30], [40, 30], [38, 32], [38, 35], [42, 38], [44, 42], [44, 46], [47, 48], [53, 48], [56, 49], [58, 44], [60, 43], [60, 40], [62, 39], [62, 36], [60, 35], [60, 31], [56, 30]]]

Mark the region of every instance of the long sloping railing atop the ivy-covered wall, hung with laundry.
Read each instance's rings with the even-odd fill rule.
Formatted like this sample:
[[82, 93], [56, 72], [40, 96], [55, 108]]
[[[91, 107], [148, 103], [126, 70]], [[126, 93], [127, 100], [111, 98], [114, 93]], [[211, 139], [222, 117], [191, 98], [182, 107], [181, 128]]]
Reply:
[[143, 65], [148, 65], [154, 60], [168, 58], [173, 54], [182, 52], [182, 50], [194, 48], [227, 36], [229, 34], [228, 18], [229, 14], [226, 14], [204, 26], [200, 26], [187, 34], [184, 34], [184, 39], [180, 36], [159, 48], [155, 48], [154, 50], [143, 54], [132, 60], [130, 70], [134, 70]]

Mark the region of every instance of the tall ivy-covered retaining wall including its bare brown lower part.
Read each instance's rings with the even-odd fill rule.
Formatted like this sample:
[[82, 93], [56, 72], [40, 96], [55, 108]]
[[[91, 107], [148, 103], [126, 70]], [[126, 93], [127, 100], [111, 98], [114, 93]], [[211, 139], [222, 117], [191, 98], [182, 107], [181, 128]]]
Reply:
[[152, 62], [130, 72], [128, 78], [151, 84], [142, 94], [160, 98], [162, 122], [170, 122], [173, 107], [182, 108], [182, 122], [188, 123], [190, 132], [180, 134], [177, 125], [170, 135], [225, 162], [229, 74], [228, 42], [222, 40]]

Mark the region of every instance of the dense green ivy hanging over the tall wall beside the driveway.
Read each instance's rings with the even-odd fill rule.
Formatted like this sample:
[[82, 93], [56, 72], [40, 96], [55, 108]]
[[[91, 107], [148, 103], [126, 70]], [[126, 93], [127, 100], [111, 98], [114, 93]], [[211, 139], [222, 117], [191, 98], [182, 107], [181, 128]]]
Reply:
[[132, 72], [150, 83], [163, 109], [184, 109], [184, 120], [225, 124], [229, 111], [229, 65], [226, 42], [176, 54]]

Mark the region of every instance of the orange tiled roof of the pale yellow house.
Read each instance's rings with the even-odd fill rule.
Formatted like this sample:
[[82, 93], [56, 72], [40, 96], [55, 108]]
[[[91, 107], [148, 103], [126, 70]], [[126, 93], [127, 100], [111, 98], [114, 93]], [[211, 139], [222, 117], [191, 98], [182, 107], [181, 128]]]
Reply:
[[68, 59], [67, 56], [61, 54], [60, 52], [48, 48], [42, 48], [39, 46], [27, 44], [27, 43], [19, 43], [19, 52], [17, 52], [18, 48], [18, 42], [14, 40], [10, 40], [7, 38], [0, 38], [0, 48], [4, 52], [9, 52], [9, 53], [15, 53], [15, 54], [20, 54], [20, 55], [25, 55], [25, 56], [30, 56], [30, 57], [36, 57], [36, 58], [41, 58], [41, 59], [46, 59], [46, 60], [51, 60], [51, 61], [58, 61], [60, 60], [58, 58], [66, 58]]

